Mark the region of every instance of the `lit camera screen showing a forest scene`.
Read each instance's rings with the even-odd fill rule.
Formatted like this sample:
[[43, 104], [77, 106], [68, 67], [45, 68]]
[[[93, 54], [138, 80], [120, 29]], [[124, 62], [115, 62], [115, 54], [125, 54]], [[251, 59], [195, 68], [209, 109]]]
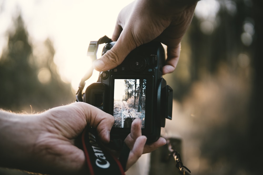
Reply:
[[140, 118], [145, 127], [146, 79], [114, 80], [114, 128], [131, 128], [134, 119]]

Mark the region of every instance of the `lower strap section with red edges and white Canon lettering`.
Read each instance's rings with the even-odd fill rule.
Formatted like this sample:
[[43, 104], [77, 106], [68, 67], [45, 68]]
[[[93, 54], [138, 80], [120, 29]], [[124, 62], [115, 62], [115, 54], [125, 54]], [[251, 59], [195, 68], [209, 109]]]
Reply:
[[[120, 158], [120, 160], [118, 160], [118, 158], [116, 158], [107, 149], [105, 149], [105, 147], [99, 142], [97, 138], [98, 135], [96, 130], [91, 127], [86, 127], [81, 137], [81, 142], [83, 146], [83, 151], [85, 153], [89, 174], [125, 175], [124, 171], [128, 157], [124, 158], [124, 160], [123, 158]], [[129, 152], [130, 150], [125, 151], [126, 156]], [[122, 161], [122, 163], [120, 161]]]

